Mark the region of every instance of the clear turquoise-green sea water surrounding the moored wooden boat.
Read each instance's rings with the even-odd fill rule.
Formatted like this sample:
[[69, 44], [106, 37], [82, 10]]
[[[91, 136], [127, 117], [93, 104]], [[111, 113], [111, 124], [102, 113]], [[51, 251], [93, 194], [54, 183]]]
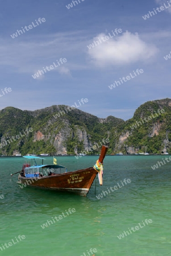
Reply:
[[[60, 156], [58, 163], [68, 171], [91, 167], [97, 156]], [[164, 256], [171, 255], [171, 174], [170, 163], [156, 170], [151, 166], [165, 156], [106, 156], [104, 160], [103, 186], [96, 179], [87, 194], [81, 197], [68, 193], [19, 188], [16, 183], [23, 158], [0, 158], [1, 233], [0, 255], [8, 256]], [[52, 163], [46, 158], [44, 163]], [[131, 183], [122, 186], [121, 181]], [[110, 187], [118, 190], [105, 193]], [[124, 183], [123, 183], [124, 184]], [[96, 192], [95, 192], [96, 190]], [[113, 189], [114, 190], [114, 189]], [[105, 193], [102, 199], [98, 196]], [[68, 209], [76, 212], [56, 221], [55, 216], [66, 214]], [[151, 224], [145, 224], [151, 219]], [[47, 228], [41, 228], [48, 220], [54, 220]], [[119, 240], [118, 236], [135, 226], [143, 228], [132, 231]], [[26, 238], [17, 242], [16, 238]], [[15, 238], [16, 237], [16, 238]], [[19, 240], [19, 238], [18, 238]], [[88, 253], [89, 252], [89, 253]]]

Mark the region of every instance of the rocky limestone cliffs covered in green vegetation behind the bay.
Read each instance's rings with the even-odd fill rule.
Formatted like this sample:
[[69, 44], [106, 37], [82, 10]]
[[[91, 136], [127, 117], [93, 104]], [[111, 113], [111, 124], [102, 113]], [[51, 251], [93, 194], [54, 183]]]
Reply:
[[[7, 107], [0, 111], [0, 154], [96, 154], [93, 145], [109, 139], [109, 154], [123, 151], [171, 153], [171, 100], [148, 101], [128, 121], [98, 118], [79, 109], [58, 105], [28, 111]], [[31, 131], [29, 131], [29, 129]]]

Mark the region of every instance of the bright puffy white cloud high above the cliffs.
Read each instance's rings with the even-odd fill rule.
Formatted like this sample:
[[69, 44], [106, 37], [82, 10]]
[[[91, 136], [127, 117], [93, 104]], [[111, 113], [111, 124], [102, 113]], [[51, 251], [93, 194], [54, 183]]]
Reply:
[[[106, 35], [99, 34], [93, 38], [93, 41], [98, 41], [102, 36]], [[145, 43], [137, 33], [131, 34], [126, 31], [121, 36], [106, 40], [89, 49], [88, 54], [95, 65], [106, 67], [106, 65], [125, 65], [149, 60], [157, 52], [156, 46]]]

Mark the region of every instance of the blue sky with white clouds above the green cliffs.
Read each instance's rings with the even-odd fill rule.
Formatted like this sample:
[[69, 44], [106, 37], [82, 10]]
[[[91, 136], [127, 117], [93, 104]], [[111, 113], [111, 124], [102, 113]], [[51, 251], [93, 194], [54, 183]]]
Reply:
[[[146, 101], [170, 97], [171, 7], [144, 20], [165, 0], [3, 1], [0, 11], [0, 109], [36, 110], [52, 105], [88, 102], [79, 109], [98, 117], [127, 120]], [[171, 5], [171, 4], [170, 4]], [[22, 27], [45, 22], [12, 38]], [[89, 49], [115, 29], [122, 33]], [[34, 79], [60, 58], [67, 62]], [[109, 85], [136, 69], [144, 73], [112, 90]], [[1, 93], [2, 95], [2, 93]]]

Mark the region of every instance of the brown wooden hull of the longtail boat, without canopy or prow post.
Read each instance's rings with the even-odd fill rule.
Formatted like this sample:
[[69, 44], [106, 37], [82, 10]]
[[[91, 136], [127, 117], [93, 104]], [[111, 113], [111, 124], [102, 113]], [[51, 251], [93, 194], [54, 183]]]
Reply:
[[20, 176], [20, 181], [24, 187], [29, 186], [40, 189], [65, 191], [86, 196], [96, 175], [97, 171], [93, 167], [90, 167], [84, 170], [37, 178]]

